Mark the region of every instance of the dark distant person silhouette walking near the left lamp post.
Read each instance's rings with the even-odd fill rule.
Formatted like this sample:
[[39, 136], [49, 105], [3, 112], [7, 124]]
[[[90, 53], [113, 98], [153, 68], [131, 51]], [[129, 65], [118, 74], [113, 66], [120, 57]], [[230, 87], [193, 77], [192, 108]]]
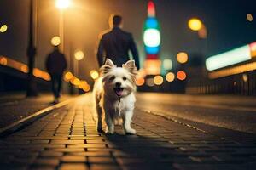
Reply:
[[55, 97], [54, 103], [59, 102], [63, 72], [67, 69], [67, 60], [62, 54], [58, 46], [55, 46], [54, 51], [51, 52], [46, 59], [46, 69], [49, 71], [51, 77], [52, 92]]

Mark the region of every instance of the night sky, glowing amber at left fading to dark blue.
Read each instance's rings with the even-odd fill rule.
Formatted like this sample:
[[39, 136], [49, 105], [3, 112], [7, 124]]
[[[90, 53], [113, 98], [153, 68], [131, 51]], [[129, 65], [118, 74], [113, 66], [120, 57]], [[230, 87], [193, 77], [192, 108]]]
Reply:
[[[255, 2], [255, 3], [253, 3]], [[97, 69], [96, 41], [98, 34], [108, 29], [110, 14], [124, 16], [126, 31], [131, 31], [137, 42], [141, 60], [143, 51], [143, 22], [147, 17], [146, 0], [73, 0], [65, 11], [65, 54], [69, 59], [73, 50], [81, 48], [85, 59], [79, 63], [80, 77]], [[253, 0], [155, 0], [156, 15], [161, 26], [161, 59], [172, 59], [176, 54], [219, 54], [256, 41], [256, 1]], [[253, 21], [247, 20], [253, 14]], [[190, 31], [187, 22], [198, 17], [207, 27], [208, 36], [200, 40]], [[59, 11], [54, 0], [38, 0], [36, 66], [44, 70], [44, 59], [52, 47], [50, 39], [58, 35]], [[0, 26], [9, 30], [0, 33], [0, 55], [26, 63], [28, 0], [1, 0]]]

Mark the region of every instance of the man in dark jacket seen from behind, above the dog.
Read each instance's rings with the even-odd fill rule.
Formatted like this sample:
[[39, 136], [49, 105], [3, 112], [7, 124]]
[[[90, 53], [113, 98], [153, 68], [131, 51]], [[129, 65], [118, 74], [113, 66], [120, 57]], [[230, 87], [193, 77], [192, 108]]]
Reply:
[[123, 31], [122, 17], [120, 15], [111, 15], [109, 19], [110, 30], [104, 31], [97, 48], [98, 64], [102, 66], [105, 59], [112, 59], [118, 66], [122, 66], [129, 60], [129, 50], [137, 69], [139, 69], [139, 56], [137, 47], [131, 33]]

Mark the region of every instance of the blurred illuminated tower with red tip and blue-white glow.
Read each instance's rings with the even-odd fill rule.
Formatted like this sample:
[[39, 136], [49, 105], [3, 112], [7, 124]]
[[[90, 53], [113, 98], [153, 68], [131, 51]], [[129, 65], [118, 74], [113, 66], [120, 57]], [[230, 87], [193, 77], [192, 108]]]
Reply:
[[160, 24], [155, 17], [155, 8], [152, 1], [148, 2], [148, 18], [144, 23], [143, 42], [146, 51], [144, 68], [147, 75], [160, 74]]

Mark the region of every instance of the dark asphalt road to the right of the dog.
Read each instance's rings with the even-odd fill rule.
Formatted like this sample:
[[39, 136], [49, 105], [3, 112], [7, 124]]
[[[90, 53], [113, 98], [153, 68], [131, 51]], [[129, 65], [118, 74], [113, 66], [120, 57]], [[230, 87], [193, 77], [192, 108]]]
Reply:
[[247, 133], [256, 133], [255, 102], [255, 97], [231, 95], [137, 94], [143, 111]]

